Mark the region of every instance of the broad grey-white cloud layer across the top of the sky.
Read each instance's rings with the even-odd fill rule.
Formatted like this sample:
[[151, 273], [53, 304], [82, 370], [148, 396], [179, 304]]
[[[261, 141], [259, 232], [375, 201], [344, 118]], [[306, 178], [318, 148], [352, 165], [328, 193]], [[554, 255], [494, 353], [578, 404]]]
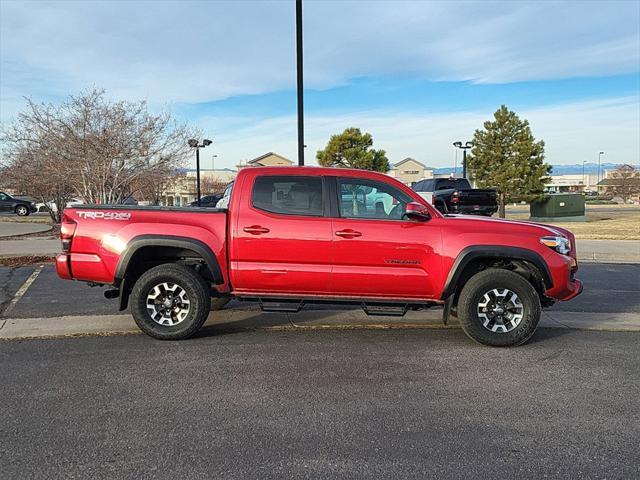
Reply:
[[[294, 86], [293, 2], [0, 5], [3, 102], [94, 85], [154, 103]], [[363, 75], [500, 83], [639, 69], [640, 3], [634, 1], [304, 5], [311, 88]]]

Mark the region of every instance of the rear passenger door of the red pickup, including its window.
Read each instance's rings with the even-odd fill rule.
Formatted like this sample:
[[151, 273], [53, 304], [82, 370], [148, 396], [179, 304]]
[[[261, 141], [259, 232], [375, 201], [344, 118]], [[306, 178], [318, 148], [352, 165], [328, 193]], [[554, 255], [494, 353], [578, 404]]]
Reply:
[[329, 293], [332, 231], [323, 177], [252, 175], [240, 193], [230, 253], [233, 290]]

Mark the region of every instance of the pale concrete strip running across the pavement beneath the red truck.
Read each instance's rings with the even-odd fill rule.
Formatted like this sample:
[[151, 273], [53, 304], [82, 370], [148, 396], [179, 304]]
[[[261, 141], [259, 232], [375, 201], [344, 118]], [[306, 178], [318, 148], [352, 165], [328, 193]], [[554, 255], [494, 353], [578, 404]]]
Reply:
[[[214, 313], [204, 333], [241, 331], [308, 331], [355, 329], [445, 329], [442, 311], [408, 312], [404, 318], [368, 317], [360, 310], [314, 310], [295, 315], [263, 313], [252, 309], [231, 309]], [[130, 315], [18, 318], [0, 321], [0, 340], [139, 334]], [[640, 332], [640, 314], [545, 311], [541, 328]]]

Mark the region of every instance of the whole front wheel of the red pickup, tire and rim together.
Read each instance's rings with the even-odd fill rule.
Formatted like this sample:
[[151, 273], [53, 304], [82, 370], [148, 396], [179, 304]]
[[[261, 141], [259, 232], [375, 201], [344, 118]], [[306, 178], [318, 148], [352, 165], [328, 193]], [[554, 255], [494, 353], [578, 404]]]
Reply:
[[540, 321], [540, 298], [515, 272], [490, 268], [475, 274], [458, 299], [458, 319], [478, 343], [513, 347], [525, 343]]

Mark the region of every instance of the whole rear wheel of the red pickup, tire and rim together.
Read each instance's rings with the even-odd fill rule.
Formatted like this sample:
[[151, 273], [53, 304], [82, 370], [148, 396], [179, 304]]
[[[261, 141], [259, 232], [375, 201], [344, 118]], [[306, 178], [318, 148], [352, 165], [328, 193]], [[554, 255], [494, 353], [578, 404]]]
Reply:
[[160, 340], [195, 334], [209, 316], [211, 297], [192, 269], [165, 263], [147, 270], [133, 286], [131, 314], [140, 330]]

